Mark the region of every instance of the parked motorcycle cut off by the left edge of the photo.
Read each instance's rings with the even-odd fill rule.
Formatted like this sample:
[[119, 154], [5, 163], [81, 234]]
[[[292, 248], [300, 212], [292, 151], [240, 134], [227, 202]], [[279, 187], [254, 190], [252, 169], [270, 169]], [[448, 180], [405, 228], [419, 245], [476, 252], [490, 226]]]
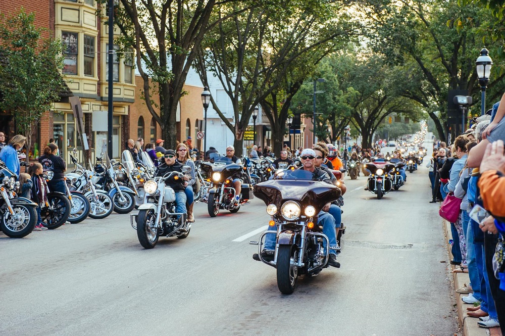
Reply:
[[17, 176], [0, 161], [0, 231], [11, 238], [22, 238], [37, 224], [37, 204], [18, 197]]

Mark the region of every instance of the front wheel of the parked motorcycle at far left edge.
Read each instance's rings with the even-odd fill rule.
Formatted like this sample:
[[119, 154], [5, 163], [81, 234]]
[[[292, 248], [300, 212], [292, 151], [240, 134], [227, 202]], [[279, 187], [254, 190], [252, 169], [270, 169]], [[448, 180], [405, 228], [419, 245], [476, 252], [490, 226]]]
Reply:
[[[33, 231], [37, 224], [37, 210], [35, 206], [15, 204], [12, 210], [20, 216], [19, 220], [14, 220], [7, 209], [7, 205], [0, 208], [0, 230], [11, 238], [22, 238]], [[9, 214], [9, 218], [7, 217]], [[22, 216], [22, 217], [21, 217]]]

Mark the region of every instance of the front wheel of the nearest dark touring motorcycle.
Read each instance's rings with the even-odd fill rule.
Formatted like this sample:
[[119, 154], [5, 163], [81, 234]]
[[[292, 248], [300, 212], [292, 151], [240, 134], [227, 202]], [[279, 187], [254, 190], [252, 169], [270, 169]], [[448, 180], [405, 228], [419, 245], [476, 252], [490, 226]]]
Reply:
[[277, 287], [282, 294], [292, 294], [298, 278], [298, 249], [295, 245], [279, 245], [277, 252]]

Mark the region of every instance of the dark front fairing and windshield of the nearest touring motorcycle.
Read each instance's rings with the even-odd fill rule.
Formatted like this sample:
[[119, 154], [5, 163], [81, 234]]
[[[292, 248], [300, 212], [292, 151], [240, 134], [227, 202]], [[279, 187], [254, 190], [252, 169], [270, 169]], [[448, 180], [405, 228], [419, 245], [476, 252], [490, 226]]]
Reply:
[[254, 195], [266, 205], [275, 204], [278, 208], [286, 200], [295, 200], [302, 207], [312, 205], [319, 212], [326, 203], [340, 197], [340, 189], [333, 184], [313, 181], [312, 173], [305, 170], [284, 170], [274, 179], [258, 183]]

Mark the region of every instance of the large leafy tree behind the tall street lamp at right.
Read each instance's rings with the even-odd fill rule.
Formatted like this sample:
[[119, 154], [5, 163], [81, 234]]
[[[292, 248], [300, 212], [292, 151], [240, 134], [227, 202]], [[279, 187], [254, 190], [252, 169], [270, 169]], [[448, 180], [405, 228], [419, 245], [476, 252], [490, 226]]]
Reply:
[[[480, 26], [491, 19], [489, 12], [475, 5], [459, 7], [456, 0], [370, 0], [369, 4], [373, 50], [385, 55], [389, 64], [403, 66], [403, 75], [411, 83], [403, 95], [424, 107], [439, 137], [445, 138], [448, 90], [468, 89], [474, 102], [479, 101], [475, 60], [485, 34], [470, 26], [458, 30], [453, 19], [478, 17], [476, 26]], [[489, 84], [491, 99], [503, 91], [502, 78], [497, 76]]]

